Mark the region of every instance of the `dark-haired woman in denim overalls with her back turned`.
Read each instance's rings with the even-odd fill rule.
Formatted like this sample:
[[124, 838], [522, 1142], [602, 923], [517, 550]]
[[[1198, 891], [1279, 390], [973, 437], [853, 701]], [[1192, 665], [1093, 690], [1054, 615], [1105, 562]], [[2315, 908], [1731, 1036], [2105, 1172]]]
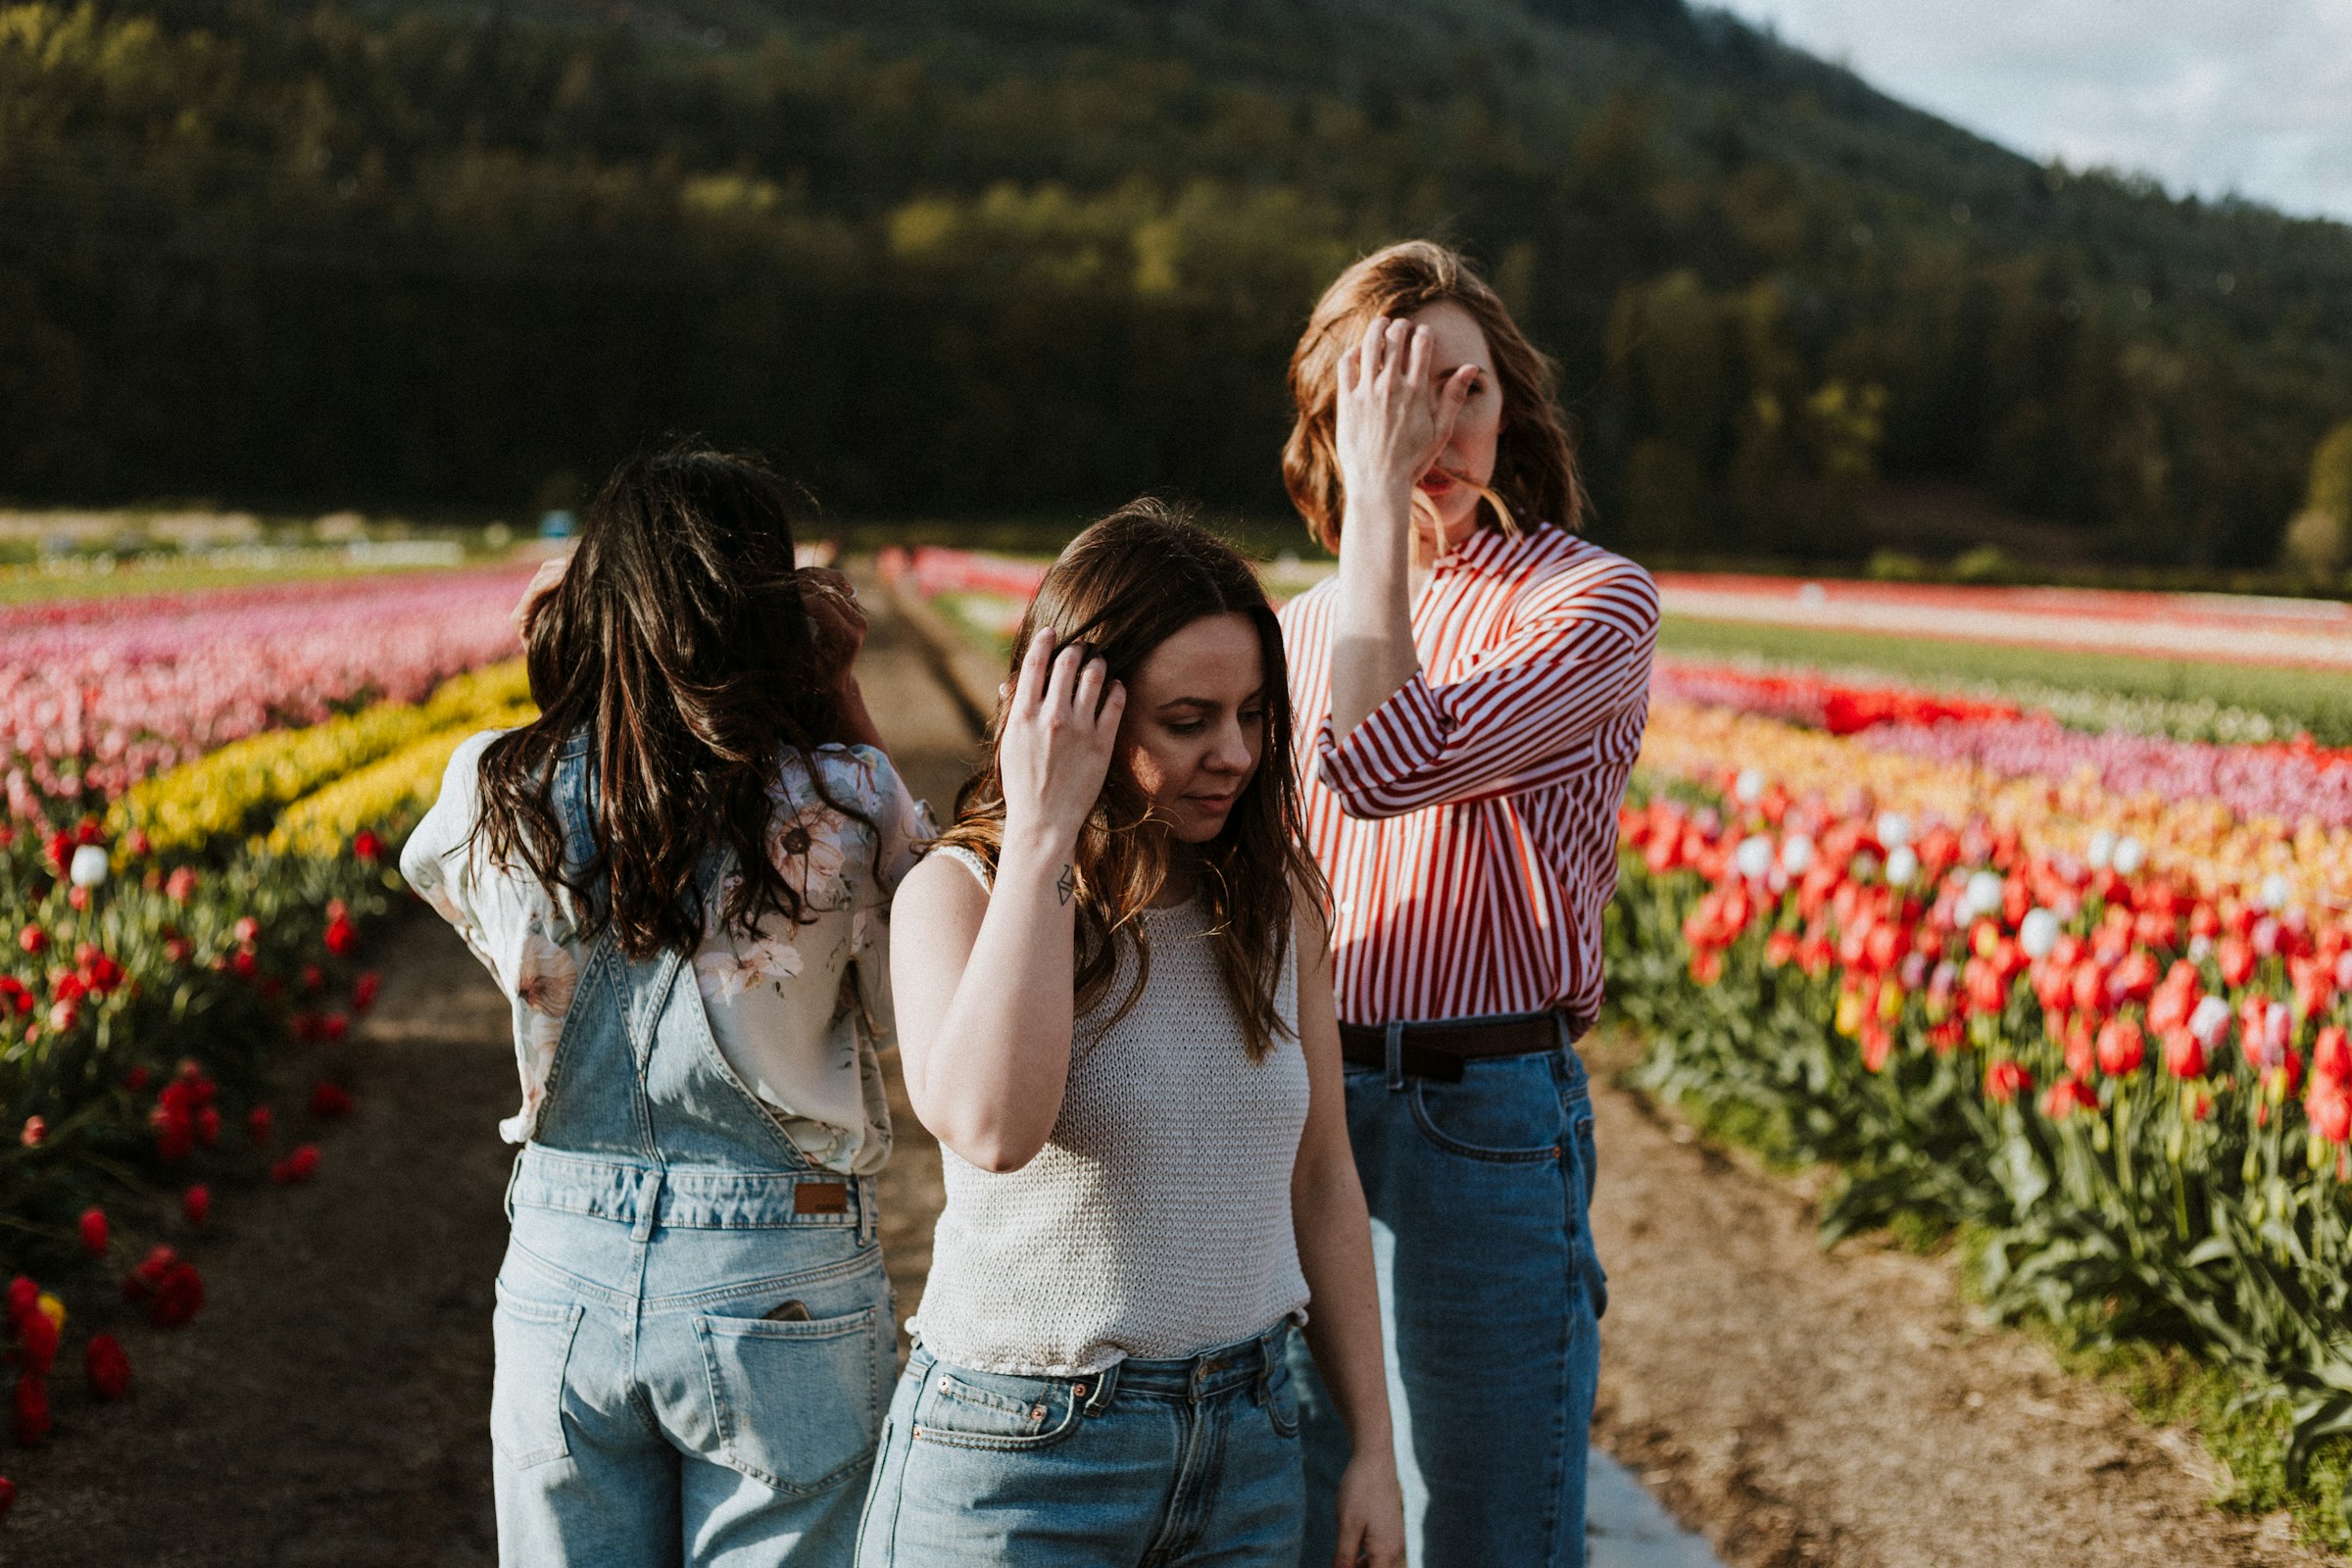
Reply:
[[[508, 1563], [847, 1563], [894, 1371], [882, 910], [920, 818], [783, 489], [623, 468], [402, 856], [515, 1009]], [[840, 675], [833, 675], [840, 672]], [[607, 778], [626, 792], [607, 797]]]

